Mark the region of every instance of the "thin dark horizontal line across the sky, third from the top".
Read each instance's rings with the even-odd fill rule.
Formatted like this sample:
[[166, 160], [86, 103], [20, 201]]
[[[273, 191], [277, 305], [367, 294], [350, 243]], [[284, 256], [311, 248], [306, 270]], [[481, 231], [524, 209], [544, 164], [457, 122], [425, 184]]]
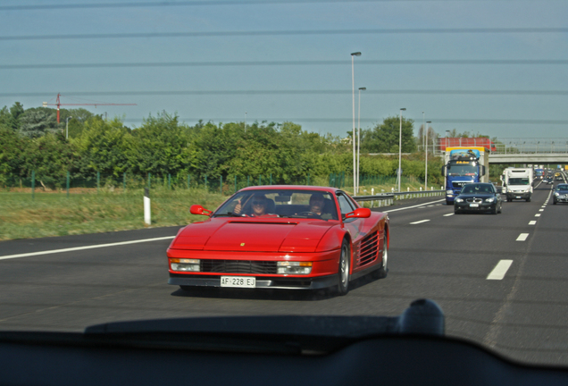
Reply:
[[[232, 66], [295, 66], [295, 65], [348, 65], [349, 61], [241, 61], [241, 62], [130, 62], [130, 63], [43, 63], [0, 64], [0, 70], [50, 70], [65, 68], [131, 68], [131, 67], [232, 67]], [[431, 59], [431, 60], [362, 60], [357, 65], [557, 65], [568, 64], [566, 59]]]

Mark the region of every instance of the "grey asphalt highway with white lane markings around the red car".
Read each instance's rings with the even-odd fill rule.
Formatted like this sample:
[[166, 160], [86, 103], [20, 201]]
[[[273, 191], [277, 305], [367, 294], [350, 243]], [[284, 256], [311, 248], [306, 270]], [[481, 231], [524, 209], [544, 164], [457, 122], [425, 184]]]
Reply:
[[447, 335], [531, 364], [568, 365], [568, 205], [553, 206], [551, 193], [540, 184], [530, 203], [505, 202], [497, 215], [455, 215], [439, 198], [389, 207], [388, 277], [356, 281], [345, 297], [186, 293], [167, 284], [165, 250], [179, 227], [4, 241], [0, 330], [205, 315], [399, 315], [413, 299], [431, 298]]

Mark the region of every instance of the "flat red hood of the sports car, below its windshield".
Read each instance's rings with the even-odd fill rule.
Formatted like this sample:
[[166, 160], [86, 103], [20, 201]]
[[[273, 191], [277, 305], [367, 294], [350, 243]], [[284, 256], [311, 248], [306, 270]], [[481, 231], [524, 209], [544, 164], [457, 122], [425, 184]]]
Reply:
[[337, 222], [262, 221], [213, 218], [189, 224], [171, 249], [237, 252], [315, 252], [323, 235]]

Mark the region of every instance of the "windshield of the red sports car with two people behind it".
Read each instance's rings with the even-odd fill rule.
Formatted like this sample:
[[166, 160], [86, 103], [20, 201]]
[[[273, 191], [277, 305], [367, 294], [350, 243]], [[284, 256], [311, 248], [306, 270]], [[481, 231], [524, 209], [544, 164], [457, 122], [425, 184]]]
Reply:
[[[236, 209], [237, 208], [237, 209]], [[226, 215], [277, 216], [338, 220], [338, 210], [332, 194], [318, 190], [254, 189], [230, 197], [214, 217]]]

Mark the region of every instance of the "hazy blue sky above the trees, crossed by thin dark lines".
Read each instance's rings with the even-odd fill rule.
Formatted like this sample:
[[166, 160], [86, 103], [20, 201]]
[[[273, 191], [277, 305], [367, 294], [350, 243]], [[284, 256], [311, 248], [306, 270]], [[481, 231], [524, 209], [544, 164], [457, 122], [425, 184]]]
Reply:
[[[562, 0], [0, 1], [0, 108], [568, 138]], [[361, 91], [359, 100], [358, 88]], [[422, 113], [423, 112], [423, 113]], [[357, 122], [355, 122], [357, 125]]]

